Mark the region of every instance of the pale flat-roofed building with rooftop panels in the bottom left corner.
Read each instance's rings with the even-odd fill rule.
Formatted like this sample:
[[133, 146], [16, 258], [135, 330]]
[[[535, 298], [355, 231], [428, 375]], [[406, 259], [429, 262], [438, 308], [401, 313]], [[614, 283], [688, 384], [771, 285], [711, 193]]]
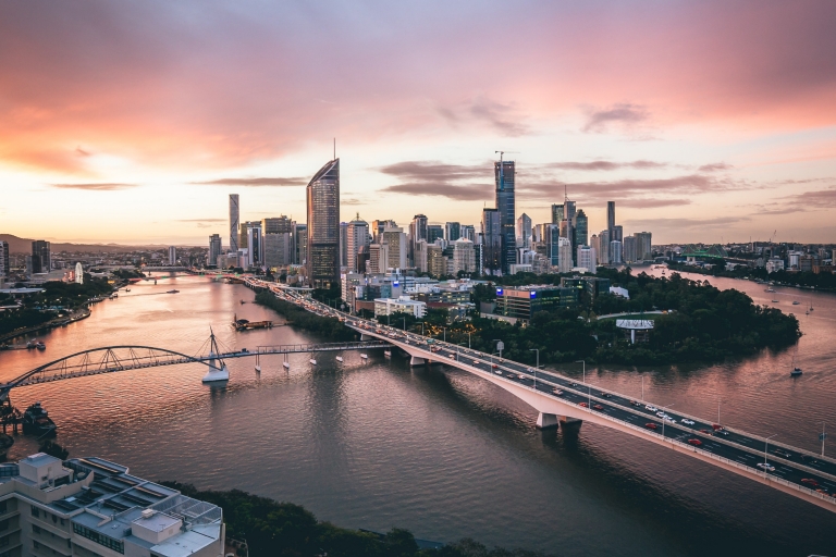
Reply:
[[0, 465], [0, 546], [9, 557], [220, 557], [220, 507], [96, 457], [38, 453]]

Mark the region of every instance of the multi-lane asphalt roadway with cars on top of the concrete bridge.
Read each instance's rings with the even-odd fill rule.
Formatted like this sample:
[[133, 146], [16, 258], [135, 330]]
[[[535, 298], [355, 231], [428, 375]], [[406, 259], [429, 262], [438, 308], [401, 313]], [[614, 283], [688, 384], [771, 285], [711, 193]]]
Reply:
[[598, 412], [635, 428], [661, 434], [664, 440], [688, 443], [710, 455], [751, 468], [764, 478], [770, 474], [799, 487], [813, 490], [833, 497], [833, 503], [836, 503], [836, 460], [831, 458], [819, 457], [739, 430], [722, 428], [710, 420], [656, 408], [652, 404], [585, 384], [551, 370], [534, 370], [508, 359], [494, 358], [492, 355], [459, 345], [348, 315], [316, 300], [287, 293], [273, 284], [260, 281], [258, 283], [260, 284], [256, 284], [257, 286], [269, 288], [281, 299], [322, 317], [337, 318], [362, 334], [415, 346], [430, 351], [439, 362], [465, 364], [537, 391], [543, 396], [577, 405], [578, 411], [571, 418], [582, 419], [585, 413]]

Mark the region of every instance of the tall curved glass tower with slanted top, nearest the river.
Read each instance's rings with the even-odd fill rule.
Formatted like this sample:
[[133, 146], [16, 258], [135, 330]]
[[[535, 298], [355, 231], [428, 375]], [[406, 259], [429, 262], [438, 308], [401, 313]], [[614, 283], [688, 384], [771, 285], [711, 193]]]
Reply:
[[329, 161], [307, 188], [308, 283], [315, 288], [340, 284], [340, 159]]

